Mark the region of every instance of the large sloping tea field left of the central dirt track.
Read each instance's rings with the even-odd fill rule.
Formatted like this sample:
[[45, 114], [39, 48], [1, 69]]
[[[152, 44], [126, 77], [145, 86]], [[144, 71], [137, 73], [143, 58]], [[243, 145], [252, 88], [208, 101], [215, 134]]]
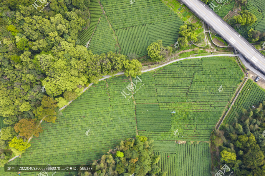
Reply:
[[[85, 164], [100, 159], [120, 140], [135, 137], [135, 105], [120, 92], [116, 96], [116, 88], [126, 87], [128, 83], [128, 78], [120, 76], [93, 85], [67, 106], [54, 124], [43, 122], [44, 132], [33, 138], [26, 153], [10, 164]], [[86, 136], [89, 129], [91, 134]], [[3, 174], [12, 175], [12, 172]], [[22, 174], [36, 176], [38, 173]], [[56, 175], [64, 175], [64, 172]]]

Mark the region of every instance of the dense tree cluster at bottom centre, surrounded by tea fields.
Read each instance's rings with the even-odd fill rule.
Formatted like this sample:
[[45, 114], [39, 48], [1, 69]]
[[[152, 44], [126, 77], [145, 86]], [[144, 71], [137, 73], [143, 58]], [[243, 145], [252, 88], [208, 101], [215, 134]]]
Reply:
[[[153, 140], [148, 140], [144, 136], [137, 136], [135, 139], [121, 141], [117, 146], [117, 152], [103, 155], [99, 162], [94, 161], [96, 172], [80, 172], [81, 176], [155, 176], [160, 172], [156, 163], [159, 156], [154, 156]], [[165, 175], [165, 173], [161, 175]]]

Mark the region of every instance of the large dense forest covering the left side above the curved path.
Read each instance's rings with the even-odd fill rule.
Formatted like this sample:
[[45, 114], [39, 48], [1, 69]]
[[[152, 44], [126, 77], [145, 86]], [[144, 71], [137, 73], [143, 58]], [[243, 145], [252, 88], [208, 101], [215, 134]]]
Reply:
[[7, 150], [21, 153], [8, 145], [16, 135], [38, 136], [39, 121], [54, 123], [58, 109], [89, 83], [120, 71], [135, 77], [141, 63], [112, 52], [94, 55], [79, 45], [90, 0], [52, 0], [44, 9], [29, 0], [0, 2], [0, 116], [9, 125], [0, 138], [4, 163], [11, 157]]

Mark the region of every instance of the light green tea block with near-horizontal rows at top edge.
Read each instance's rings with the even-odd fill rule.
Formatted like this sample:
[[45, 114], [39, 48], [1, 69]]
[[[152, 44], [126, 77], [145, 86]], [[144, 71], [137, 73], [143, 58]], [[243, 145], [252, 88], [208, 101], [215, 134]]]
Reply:
[[160, 24], [178, 18], [160, 0], [139, 0], [133, 4], [121, 0], [101, 0], [100, 2], [114, 30], [144, 24]]

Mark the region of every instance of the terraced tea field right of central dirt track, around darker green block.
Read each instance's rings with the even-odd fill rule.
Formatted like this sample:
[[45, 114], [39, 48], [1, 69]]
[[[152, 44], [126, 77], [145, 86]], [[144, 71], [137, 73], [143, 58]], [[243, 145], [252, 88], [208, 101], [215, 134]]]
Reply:
[[[142, 125], [142, 116], [159, 119], [161, 110], [167, 110], [167, 115], [172, 117], [169, 131], [160, 131], [161, 122], [154, 121], [157, 128], [146, 125], [148, 130], [139, 128], [138, 134], [155, 140], [209, 140], [242, 77], [243, 73], [231, 58], [178, 61], [153, 73], [143, 74], [141, 79], [145, 87], [134, 96], [137, 122]], [[219, 92], [221, 85], [222, 91]], [[141, 109], [137, 108], [138, 103]], [[160, 111], [152, 113], [142, 103], [149, 103], [148, 106], [158, 103]], [[164, 129], [169, 127], [167, 119], [168, 116], [165, 117]], [[174, 136], [177, 129], [181, 135]]]

